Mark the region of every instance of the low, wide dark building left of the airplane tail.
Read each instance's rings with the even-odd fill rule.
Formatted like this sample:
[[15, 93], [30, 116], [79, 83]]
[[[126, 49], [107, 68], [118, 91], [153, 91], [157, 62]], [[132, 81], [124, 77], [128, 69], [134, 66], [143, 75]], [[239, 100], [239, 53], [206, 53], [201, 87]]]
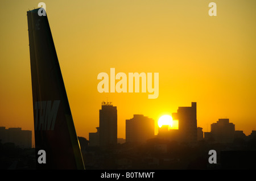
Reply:
[[0, 140], [3, 143], [13, 142], [20, 148], [32, 148], [32, 131], [22, 130], [22, 128], [0, 127]]

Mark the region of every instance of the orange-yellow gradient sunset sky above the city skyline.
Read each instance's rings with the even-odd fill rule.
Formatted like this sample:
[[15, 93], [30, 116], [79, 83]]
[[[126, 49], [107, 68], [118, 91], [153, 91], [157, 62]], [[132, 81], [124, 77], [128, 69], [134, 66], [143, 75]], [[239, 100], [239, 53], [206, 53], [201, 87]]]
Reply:
[[[34, 129], [27, 12], [40, 1], [0, 2], [0, 126]], [[246, 135], [256, 128], [256, 1], [42, 1], [78, 136], [96, 132], [104, 100], [125, 120], [156, 121], [197, 102], [204, 132], [229, 118]], [[216, 2], [217, 16], [209, 16]], [[99, 93], [98, 73], [159, 73], [159, 97]]]

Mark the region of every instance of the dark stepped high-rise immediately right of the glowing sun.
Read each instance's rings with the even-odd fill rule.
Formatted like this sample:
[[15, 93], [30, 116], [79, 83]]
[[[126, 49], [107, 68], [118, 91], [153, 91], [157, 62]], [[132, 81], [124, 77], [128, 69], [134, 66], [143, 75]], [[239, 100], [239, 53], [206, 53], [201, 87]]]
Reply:
[[192, 102], [191, 107], [179, 107], [176, 113], [172, 113], [172, 119], [179, 120], [180, 141], [197, 141], [196, 102]]

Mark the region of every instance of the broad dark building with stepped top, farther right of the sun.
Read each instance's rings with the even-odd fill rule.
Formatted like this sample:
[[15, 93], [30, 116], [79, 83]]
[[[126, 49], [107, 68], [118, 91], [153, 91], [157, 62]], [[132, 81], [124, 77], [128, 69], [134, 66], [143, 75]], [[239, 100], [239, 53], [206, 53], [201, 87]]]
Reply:
[[210, 125], [210, 133], [216, 142], [233, 142], [235, 125], [229, 123], [229, 119], [218, 119], [217, 123]]

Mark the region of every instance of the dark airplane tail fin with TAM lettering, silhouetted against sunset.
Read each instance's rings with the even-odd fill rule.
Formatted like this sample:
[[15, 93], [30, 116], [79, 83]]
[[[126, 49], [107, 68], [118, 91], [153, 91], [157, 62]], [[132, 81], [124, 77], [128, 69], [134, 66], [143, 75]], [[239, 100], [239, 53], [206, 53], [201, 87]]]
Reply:
[[46, 152], [36, 169], [84, 169], [47, 15], [38, 11], [27, 11], [35, 149]]

